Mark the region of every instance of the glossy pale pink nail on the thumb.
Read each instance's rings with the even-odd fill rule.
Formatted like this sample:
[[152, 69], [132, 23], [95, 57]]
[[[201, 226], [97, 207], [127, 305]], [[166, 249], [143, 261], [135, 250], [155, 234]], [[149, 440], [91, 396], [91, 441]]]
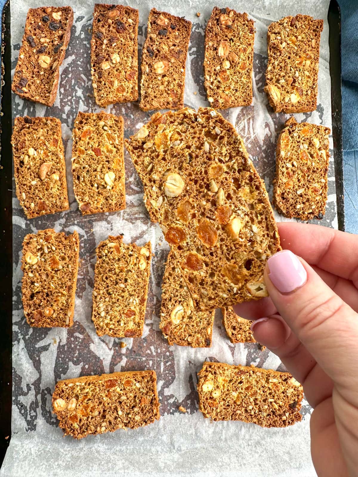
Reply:
[[270, 280], [281, 293], [297, 290], [307, 280], [304, 266], [290, 250], [275, 253], [267, 260], [267, 265]]

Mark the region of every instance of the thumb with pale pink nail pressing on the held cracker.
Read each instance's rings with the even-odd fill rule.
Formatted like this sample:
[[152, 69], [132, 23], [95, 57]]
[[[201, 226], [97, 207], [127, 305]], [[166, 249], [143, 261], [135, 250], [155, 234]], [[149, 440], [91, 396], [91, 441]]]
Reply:
[[284, 321], [328, 376], [349, 392], [358, 376], [358, 314], [290, 250], [268, 259], [264, 281]]

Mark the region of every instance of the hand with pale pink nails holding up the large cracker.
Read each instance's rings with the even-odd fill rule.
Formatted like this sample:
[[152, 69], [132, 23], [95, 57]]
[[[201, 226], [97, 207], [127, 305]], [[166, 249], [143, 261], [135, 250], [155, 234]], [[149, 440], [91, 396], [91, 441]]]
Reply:
[[358, 235], [277, 225], [284, 250], [266, 263], [270, 297], [233, 309], [303, 385], [317, 475], [357, 476]]

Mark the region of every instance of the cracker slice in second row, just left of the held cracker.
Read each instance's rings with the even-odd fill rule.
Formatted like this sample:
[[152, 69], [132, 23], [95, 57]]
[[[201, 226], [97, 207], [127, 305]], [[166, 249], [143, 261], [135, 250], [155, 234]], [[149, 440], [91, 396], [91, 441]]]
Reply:
[[79, 112], [72, 137], [74, 195], [81, 212], [126, 208], [122, 116]]

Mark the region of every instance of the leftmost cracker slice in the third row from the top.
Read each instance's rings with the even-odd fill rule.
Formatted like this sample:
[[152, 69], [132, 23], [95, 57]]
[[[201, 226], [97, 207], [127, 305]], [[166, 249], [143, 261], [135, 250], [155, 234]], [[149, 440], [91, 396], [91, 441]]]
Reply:
[[53, 228], [28, 234], [22, 248], [22, 303], [26, 321], [37, 328], [74, 323], [79, 238]]

